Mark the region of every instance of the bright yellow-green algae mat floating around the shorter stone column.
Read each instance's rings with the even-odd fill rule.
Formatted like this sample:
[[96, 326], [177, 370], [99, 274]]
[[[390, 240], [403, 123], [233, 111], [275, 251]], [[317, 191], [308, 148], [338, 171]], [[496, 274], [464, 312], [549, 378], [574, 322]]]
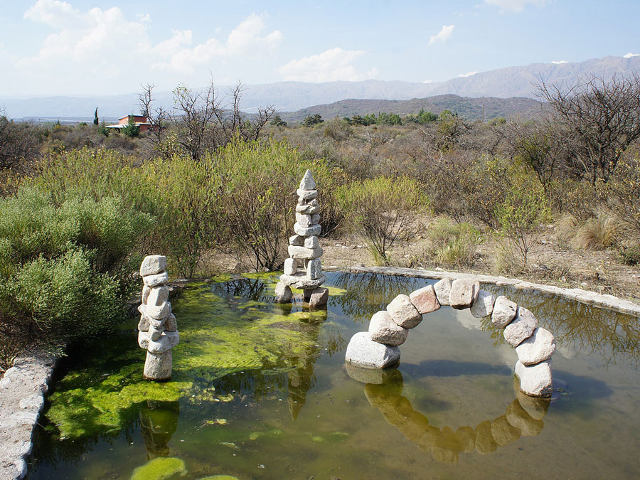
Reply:
[[[60, 436], [116, 433], [145, 401], [231, 401], [233, 395], [216, 395], [213, 386], [231, 373], [256, 370], [275, 375], [304, 368], [318, 348], [319, 325], [327, 318], [326, 310], [282, 309], [255, 299], [222, 297], [211, 288], [206, 283], [192, 284], [174, 302], [181, 341], [174, 348], [169, 382], [143, 380], [145, 352], [137, 346], [132, 330], [88, 345], [80, 367], [59, 380], [49, 398], [46, 416]], [[110, 351], [122, 351], [122, 343], [127, 344], [127, 352], [110, 355]], [[95, 351], [100, 355], [95, 356]]]

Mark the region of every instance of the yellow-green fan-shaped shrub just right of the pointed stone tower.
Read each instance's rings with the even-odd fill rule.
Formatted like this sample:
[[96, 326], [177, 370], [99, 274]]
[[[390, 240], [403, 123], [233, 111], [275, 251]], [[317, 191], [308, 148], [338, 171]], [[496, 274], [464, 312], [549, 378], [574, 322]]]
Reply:
[[420, 183], [412, 178], [378, 177], [340, 188], [340, 202], [351, 226], [361, 233], [378, 262], [388, 263], [388, 250], [415, 214], [426, 205]]

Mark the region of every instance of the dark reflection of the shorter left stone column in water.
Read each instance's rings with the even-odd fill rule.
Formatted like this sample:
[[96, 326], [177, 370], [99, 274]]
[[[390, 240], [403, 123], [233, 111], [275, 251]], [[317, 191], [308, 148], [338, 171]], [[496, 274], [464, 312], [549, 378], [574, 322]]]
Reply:
[[178, 428], [178, 402], [148, 401], [140, 408], [140, 433], [147, 459], [169, 456], [169, 441]]

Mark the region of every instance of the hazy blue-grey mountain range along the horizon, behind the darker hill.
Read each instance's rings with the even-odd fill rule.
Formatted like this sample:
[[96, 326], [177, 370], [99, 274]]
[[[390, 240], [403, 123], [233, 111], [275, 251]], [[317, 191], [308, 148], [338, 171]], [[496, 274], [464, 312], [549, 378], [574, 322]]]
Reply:
[[[295, 112], [313, 105], [332, 104], [345, 99], [412, 101], [412, 99], [448, 94], [460, 97], [503, 99], [534, 98], [536, 91], [534, 84], [540, 80], [548, 84], [572, 85], [578, 78], [587, 75], [610, 78], [615, 74], [640, 74], [640, 56], [631, 58], [609, 56], [578, 63], [533, 63], [499, 68], [435, 83], [365, 80], [363, 82], [276, 82], [246, 85], [242, 107], [247, 112], [255, 112], [258, 107], [274, 105], [280, 112]], [[226, 89], [220, 87], [220, 90], [224, 92]], [[158, 92], [157, 100], [164, 107], [171, 107], [171, 92]], [[100, 108], [100, 116], [105, 118], [117, 118], [139, 112], [136, 93], [94, 97], [0, 97], [1, 107], [4, 107], [9, 117], [36, 119], [92, 119], [95, 107]], [[348, 111], [351, 107], [346, 108]], [[377, 110], [390, 111], [383, 107], [373, 108], [373, 111]], [[430, 110], [430, 107], [425, 107], [425, 110]], [[336, 114], [342, 115], [341, 112]]]

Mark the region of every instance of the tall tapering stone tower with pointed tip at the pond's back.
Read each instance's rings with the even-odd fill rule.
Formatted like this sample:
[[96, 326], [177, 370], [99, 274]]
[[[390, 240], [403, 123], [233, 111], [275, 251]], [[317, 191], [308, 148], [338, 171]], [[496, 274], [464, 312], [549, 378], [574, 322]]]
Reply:
[[310, 307], [324, 306], [329, 299], [329, 289], [321, 288], [326, 280], [322, 273], [322, 248], [318, 241], [321, 227], [320, 203], [316, 182], [310, 170], [307, 170], [296, 191], [298, 204], [296, 206], [296, 223], [294, 232], [289, 238], [289, 258], [284, 260], [284, 274], [275, 288], [275, 301], [278, 303], [291, 302], [291, 289], [304, 291], [304, 302]]

